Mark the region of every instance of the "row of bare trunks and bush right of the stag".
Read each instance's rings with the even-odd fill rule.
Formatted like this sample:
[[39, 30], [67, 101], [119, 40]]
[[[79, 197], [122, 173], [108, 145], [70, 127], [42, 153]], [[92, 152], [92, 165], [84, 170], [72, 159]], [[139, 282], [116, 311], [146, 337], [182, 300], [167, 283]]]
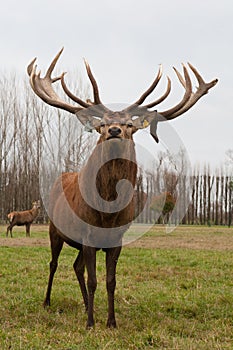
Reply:
[[[151, 192], [151, 188], [157, 177], [156, 174], [147, 174], [146, 181], [144, 183], [140, 181], [140, 192], [143, 191], [147, 198], [150, 197], [148, 208], [140, 218], [141, 221], [145, 223], [168, 222], [169, 216], [181, 197], [182, 215], [173, 221], [174, 224], [227, 225], [229, 227], [232, 225], [232, 176], [225, 173], [218, 174], [218, 172], [212, 174], [208, 169], [204, 173], [193, 171], [193, 174], [185, 180], [185, 185], [182, 186], [178, 184], [177, 175], [173, 171], [165, 171], [161, 176], [163, 182], [159, 194], [155, 195], [155, 191]], [[164, 186], [164, 180], [170, 182]], [[187, 182], [189, 187], [185, 188]], [[188, 193], [185, 196], [184, 191], [187, 190]]]

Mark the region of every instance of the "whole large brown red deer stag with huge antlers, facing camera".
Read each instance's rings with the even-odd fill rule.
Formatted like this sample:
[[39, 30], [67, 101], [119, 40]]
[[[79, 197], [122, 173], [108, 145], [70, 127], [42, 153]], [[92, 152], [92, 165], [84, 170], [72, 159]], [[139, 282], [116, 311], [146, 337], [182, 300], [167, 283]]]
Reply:
[[[162, 76], [160, 66], [151, 86], [134, 104], [121, 111], [112, 111], [101, 102], [96, 80], [86, 61], [87, 75], [93, 89], [93, 102], [76, 97], [65, 84], [64, 73], [54, 78], [51, 76], [62, 50], [54, 58], [43, 78], [36, 72], [36, 59], [29, 64], [27, 71], [31, 87], [44, 102], [76, 115], [87, 129], [90, 131], [95, 129], [100, 137], [85, 167], [79, 173], [62, 174], [50, 194], [49, 234], [52, 260], [44, 306], [50, 305], [58, 257], [63, 243], [66, 242], [79, 250], [73, 267], [88, 314], [87, 328], [93, 327], [94, 294], [97, 287], [96, 251], [102, 249], [106, 253], [107, 327], [116, 327], [114, 313], [116, 265], [121, 252], [123, 234], [134, 216], [133, 189], [136, 183], [137, 165], [133, 134], [138, 129], [150, 125], [151, 135], [158, 142], [157, 123], [171, 120], [185, 113], [217, 83], [217, 79], [210, 83], [204, 82], [197, 70], [189, 64], [198, 81], [197, 91], [193, 92], [187, 68], [183, 67], [184, 77], [175, 70], [185, 89], [184, 96], [173, 108], [157, 113], [150, 108], [155, 107], [168, 96], [171, 87], [169, 78], [163, 96], [144, 106], [142, 104]], [[58, 80], [61, 81], [65, 94], [76, 102], [76, 105], [62, 100], [55, 92], [52, 84]], [[127, 181], [124, 182], [123, 179]], [[97, 195], [92, 193], [93, 181]], [[118, 196], [118, 186], [120, 196]], [[112, 206], [114, 203], [115, 208]], [[84, 279], [85, 268], [87, 269], [87, 287]]]

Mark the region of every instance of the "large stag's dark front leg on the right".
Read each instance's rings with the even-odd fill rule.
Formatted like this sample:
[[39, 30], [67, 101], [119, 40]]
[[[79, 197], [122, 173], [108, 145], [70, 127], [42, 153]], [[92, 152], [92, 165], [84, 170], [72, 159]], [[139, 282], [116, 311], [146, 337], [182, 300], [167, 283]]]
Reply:
[[116, 266], [121, 247], [109, 248], [106, 250], [106, 286], [108, 292], [108, 321], [107, 327], [116, 328], [114, 294], [116, 288]]

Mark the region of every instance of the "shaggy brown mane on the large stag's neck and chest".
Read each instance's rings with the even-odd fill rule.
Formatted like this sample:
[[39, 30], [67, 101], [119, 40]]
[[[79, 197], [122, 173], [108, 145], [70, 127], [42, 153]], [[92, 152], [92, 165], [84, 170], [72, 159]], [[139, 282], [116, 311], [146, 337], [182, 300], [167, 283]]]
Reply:
[[[94, 149], [79, 173], [78, 182], [81, 192], [92, 198], [95, 208], [103, 208], [103, 201], [107, 205], [106, 210], [96, 210], [101, 216], [102, 227], [118, 226], [116, 220], [119, 225], [132, 221], [136, 177], [136, 155], [132, 140], [108, 140]], [[95, 182], [90, 186], [92, 178], [95, 178]], [[108, 210], [108, 203], [111, 205], [113, 201], [117, 202], [116, 210]]]

